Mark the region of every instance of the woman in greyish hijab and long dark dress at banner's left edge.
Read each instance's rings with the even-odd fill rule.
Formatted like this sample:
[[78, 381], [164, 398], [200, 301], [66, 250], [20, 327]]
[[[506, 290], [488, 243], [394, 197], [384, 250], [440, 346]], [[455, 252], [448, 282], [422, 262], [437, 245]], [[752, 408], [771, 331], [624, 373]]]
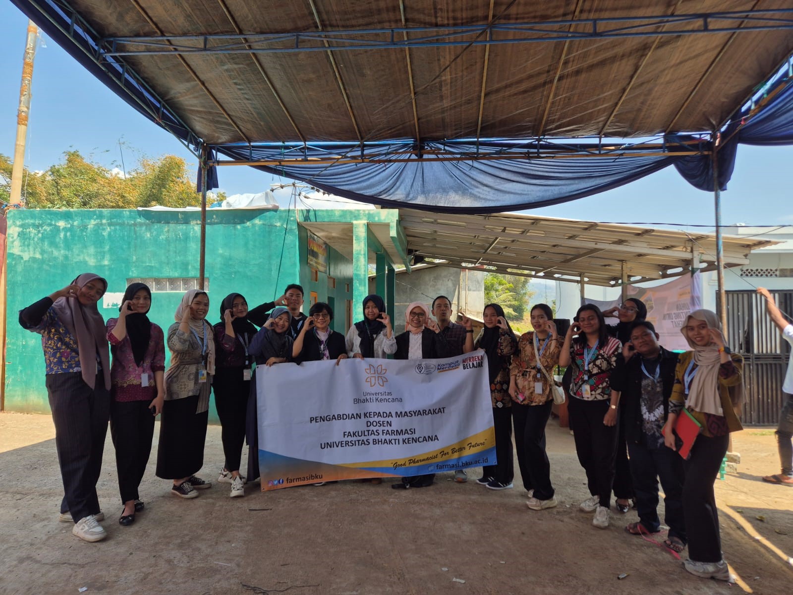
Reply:
[[[256, 367], [274, 366], [289, 362], [297, 354], [293, 353], [294, 340], [291, 335], [292, 314], [282, 305], [270, 312], [270, 318], [259, 329], [248, 352], [256, 360]], [[304, 327], [313, 326], [313, 319], [307, 318]], [[259, 478], [259, 416], [257, 413], [258, 392], [256, 374], [251, 382], [251, 396], [248, 397], [247, 417], [245, 420], [245, 439], [248, 444], [248, 479], [252, 482]]]

